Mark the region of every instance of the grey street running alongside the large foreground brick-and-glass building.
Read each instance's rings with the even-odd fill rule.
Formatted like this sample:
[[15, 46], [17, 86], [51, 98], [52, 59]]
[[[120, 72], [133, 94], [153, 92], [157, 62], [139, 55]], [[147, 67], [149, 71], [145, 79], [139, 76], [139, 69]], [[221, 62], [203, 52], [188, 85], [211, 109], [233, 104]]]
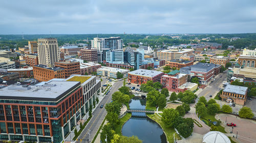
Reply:
[[[112, 90], [110, 90], [110, 93], [101, 100], [99, 105], [103, 104], [105, 106], [106, 103], [110, 103], [112, 99], [112, 94], [118, 91], [118, 89], [122, 86], [122, 83], [123, 81], [114, 82]], [[102, 121], [106, 116], [106, 110], [104, 107], [100, 108], [98, 106], [96, 107], [92, 115], [93, 115], [92, 119], [87, 124], [86, 128], [84, 128], [84, 130], [81, 132], [81, 134], [78, 137], [78, 141], [76, 141], [76, 143], [80, 142], [80, 139], [89, 139], [89, 142], [93, 140], [93, 137], [95, 136], [96, 132], [99, 129], [99, 126], [101, 125]]]

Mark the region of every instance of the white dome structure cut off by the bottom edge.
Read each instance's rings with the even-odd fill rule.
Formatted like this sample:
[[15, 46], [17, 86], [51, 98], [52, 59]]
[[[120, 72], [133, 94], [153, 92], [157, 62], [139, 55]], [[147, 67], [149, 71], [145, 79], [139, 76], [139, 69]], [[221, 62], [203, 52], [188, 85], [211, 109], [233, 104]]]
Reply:
[[203, 137], [203, 143], [231, 143], [229, 138], [222, 132], [210, 131]]

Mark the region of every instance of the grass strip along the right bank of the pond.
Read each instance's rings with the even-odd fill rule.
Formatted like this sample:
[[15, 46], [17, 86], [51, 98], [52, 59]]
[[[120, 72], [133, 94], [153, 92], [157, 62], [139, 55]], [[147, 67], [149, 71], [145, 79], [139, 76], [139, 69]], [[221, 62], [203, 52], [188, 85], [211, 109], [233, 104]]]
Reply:
[[180, 136], [175, 132], [174, 128], [167, 128], [165, 124], [161, 121], [161, 117], [158, 116], [157, 114], [147, 115], [147, 117], [156, 121], [162, 127], [162, 129], [166, 134], [166, 138], [169, 142], [174, 142], [174, 133], [175, 133], [175, 138], [181, 139]]

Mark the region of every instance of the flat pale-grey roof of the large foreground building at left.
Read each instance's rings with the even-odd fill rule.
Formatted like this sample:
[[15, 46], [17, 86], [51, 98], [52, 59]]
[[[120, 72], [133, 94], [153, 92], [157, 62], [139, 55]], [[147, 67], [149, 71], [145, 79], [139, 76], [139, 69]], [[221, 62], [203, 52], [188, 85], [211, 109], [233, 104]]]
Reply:
[[42, 85], [12, 84], [0, 89], [0, 99], [57, 102], [79, 85], [79, 81], [50, 81]]

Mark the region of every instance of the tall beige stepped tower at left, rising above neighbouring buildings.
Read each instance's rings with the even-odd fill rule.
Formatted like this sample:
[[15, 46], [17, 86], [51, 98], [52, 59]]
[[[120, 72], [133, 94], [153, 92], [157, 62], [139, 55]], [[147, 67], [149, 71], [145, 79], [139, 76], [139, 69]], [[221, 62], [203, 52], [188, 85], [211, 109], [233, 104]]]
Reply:
[[60, 60], [60, 51], [56, 38], [38, 39], [38, 63], [47, 66], [53, 66]]

